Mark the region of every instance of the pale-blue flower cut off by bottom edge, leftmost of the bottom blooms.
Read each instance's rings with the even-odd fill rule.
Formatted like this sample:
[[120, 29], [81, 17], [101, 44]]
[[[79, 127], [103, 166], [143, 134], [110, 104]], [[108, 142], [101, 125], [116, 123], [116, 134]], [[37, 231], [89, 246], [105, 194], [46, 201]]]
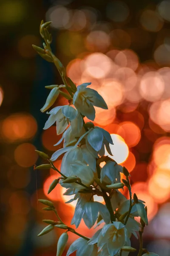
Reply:
[[66, 256], [75, 251], [77, 251], [76, 256], [97, 256], [97, 245], [90, 245], [86, 239], [79, 238], [71, 244]]

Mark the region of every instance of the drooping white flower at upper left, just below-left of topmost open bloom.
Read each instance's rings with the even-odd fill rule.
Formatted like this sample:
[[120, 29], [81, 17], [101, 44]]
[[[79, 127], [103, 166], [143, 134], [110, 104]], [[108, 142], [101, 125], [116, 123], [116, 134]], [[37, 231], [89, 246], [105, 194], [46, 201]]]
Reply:
[[68, 127], [69, 123], [77, 117], [77, 130], [82, 128], [82, 117], [79, 116], [77, 110], [69, 105], [58, 106], [49, 112], [50, 116], [45, 122], [44, 130], [51, 127], [56, 122], [57, 134], [62, 134], [63, 131]]

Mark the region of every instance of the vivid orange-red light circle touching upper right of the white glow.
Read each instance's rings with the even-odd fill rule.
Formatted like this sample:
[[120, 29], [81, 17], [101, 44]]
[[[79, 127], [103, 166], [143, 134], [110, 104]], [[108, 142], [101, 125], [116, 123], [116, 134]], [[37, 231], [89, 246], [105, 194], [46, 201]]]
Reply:
[[125, 140], [128, 147], [133, 147], [139, 143], [141, 139], [141, 132], [139, 127], [133, 122], [122, 122], [119, 124], [120, 128], [117, 131]]

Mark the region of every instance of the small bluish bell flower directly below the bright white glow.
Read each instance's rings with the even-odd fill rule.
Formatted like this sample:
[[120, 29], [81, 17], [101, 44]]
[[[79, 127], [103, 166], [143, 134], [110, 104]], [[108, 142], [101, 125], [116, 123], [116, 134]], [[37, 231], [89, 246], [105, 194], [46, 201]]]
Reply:
[[108, 161], [101, 170], [101, 183], [113, 184], [120, 182], [120, 172], [122, 172], [122, 166], [113, 161]]

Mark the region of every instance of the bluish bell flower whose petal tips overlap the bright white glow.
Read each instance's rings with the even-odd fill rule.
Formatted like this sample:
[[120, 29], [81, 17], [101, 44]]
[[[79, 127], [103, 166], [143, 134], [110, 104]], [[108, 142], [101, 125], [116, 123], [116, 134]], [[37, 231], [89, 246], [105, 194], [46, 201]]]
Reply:
[[109, 143], [113, 144], [111, 134], [98, 126], [95, 126], [94, 129], [91, 129], [87, 136], [87, 140], [91, 147], [94, 148], [94, 150], [97, 152], [101, 150], [102, 146], [107, 145], [108, 147]]

